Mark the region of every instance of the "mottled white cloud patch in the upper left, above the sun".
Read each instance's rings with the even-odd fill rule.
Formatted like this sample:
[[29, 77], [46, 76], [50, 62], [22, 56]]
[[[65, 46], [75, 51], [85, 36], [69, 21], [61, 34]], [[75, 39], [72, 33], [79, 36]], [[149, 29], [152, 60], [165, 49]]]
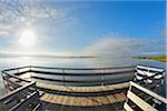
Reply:
[[32, 24], [37, 19], [63, 17], [62, 10], [50, 8], [39, 0], [0, 0], [0, 36], [18, 27]]

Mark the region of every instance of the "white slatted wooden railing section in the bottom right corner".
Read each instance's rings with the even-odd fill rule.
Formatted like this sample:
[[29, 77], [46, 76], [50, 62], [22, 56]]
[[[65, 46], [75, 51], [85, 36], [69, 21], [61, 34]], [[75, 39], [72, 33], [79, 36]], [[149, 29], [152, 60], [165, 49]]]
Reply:
[[[138, 93], [136, 93], [136, 90], [140, 90], [141, 92], [144, 92], [145, 94], [147, 94], [150, 99], [149, 102], [151, 100], [151, 104], [148, 103], [147, 99], [143, 99], [144, 95], [139, 95]], [[157, 101], [157, 102], [156, 102]], [[138, 111], [138, 110], [143, 110], [143, 111], [158, 111], [160, 109], [156, 109], [156, 104], [160, 104], [160, 103], [165, 103], [167, 104], [167, 99], [163, 98], [160, 95], [158, 95], [157, 93], [143, 88], [141, 85], [135, 83], [135, 82], [130, 82], [130, 88], [128, 90], [127, 93], [127, 99], [126, 102], [124, 104], [124, 109], [126, 111]]]

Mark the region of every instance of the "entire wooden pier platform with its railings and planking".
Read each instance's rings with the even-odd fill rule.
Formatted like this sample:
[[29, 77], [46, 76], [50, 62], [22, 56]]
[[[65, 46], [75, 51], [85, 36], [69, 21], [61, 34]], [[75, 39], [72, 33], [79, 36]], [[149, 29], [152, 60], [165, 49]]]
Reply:
[[[33, 72], [36, 71], [35, 68], [41, 69], [41, 67], [28, 67], [28, 68], [29, 68], [29, 71], [24, 71], [24, 72]], [[144, 69], [144, 67], [137, 67], [137, 68], [138, 68], [137, 70]], [[10, 69], [10, 70], [17, 70], [18, 71], [17, 73], [19, 74], [24, 73], [24, 72], [20, 72], [19, 69], [21, 68]], [[45, 69], [58, 69], [58, 68], [45, 68]], [[85, 87], [67, 87], [66, 84], [53, 85], [53, 84], [47, 84], [47, 82], [41, 83], [40, 81], [37, 81], [32, 83], [33, 85], [31, 85], [30, 81], [18, 77], [19, 74], [12, 75], [6, 72], [10, 70], [2, 71], [2, 78], [4, 80], [4, 85], [7, 88], [8, 87], [11, 88], [10, 91], [12, 92], [9, 93], [7, 97], [1, 98], [0, 104], [2, 104], [2, 107], [4, 108], [8, 108], [10, 107], [11, 102], [14, 102], [14, 100], [18, 100], [19, 104], [12, 107], [11, 110], [24, 111], [23, 109], [33, 109], [33, 111], [36, 110], [40, 110], [40, 111], [55, 111], [55, 110], [57, 111], [75, 111], [75, 110], [76, 111], [121, 111], [124, 107], [124, 109], [127, 111], [138, 111], [138, 109], [147, 110], [147, 111], [149, 110], [157, 111], [157, 109], [161, 108], [160, 105], [161, 102], [167, 103], [167, 100], [165, 98], [159, 97], [158, 94], [149, 91], [148, 89], [145, 89], [132, 82], [130, 83], [124, 82], [124, 83], [106, 84], [106, 85], [97, 85], [97, 87], [86, 87], [86, 85]], [[62, 70], [61, 74], [63, 78], [66, 74], [76, 77], [76, 73], [65, 73], [65, 69], [61, 69], [61, 68], [60, 70]], [[66, 70], [76, 70], [76, 69], [66, 69]], [[82, 69], [77, 69], [77, 70], [82, 70]], [[97, 69], [86, 69], [86, 70], [97, 70]], [[104, 70], [104, 69], [100, 69], [100, 70]], [[163, 78], [164, 71], [161, 73], [156, 73], [155, 75], [153, 75], [153, 72], [155, 71], [150, 71], [150, 70], [151, 69], [148, 68], [149, 74], [146, 72], [145, 69], [144, 71], [141, 71], [141, 72], [146, 72], [146, 74], [149, 75], [146, 79], [155, 78], [155, 75], [156, 75], [156, 79]], [[137, 71], [136, 74], [141, 73], [141, 72]], [[47, 72], [47, 74], [56, 74], [56, 73]], [[108, 74], [110, 75], [112, 73], [110, 72], [106, 73], [106, 75]], [[157, 78], [157, 74], [161, 74], [161, 77]], [[92, 77], [100, 75], [102, 78], [104, 73], [98, 73], [98, 74], [91, 73], [91, 75]], [[143, 79], [143, 80], [146, 80], [146, 79]], [[69, 81], [63, 80], [62, 82], [69, 82]], [[78, 83], [81, 81], [77, 80], [75, 82]], [[86, 80], [85, 82], [90, 83], [94, 81]], [[100, 82], [101, 84], [104, 84], [102, 79]], [[30, 83], [30, 84], [27, 85], [27, 83]], [[126, 92], [128, 88], [129, 88], [129, 91], [126, 97]], [[138, 90], [134, 90], [134, 88], [140, 90], [141, 93], [144, 92], [144, 93], [150, 94], [150, 97], [147, 95], [148, 97], [147, 98], [147, 97], [139, 94]], [[148, 99], [150, 100], [151, 98], [154, 99], [149, 101], [151, 102], [149, 103]], [[158, 102], [157, 104], [157, 100], [155, 99], [157, 99], [158, 101], [160, 100], [160, 102]], [[125, 102], [125, 105], [122, 105], [124, 102]], [[156, 103], [156, 104], [153, 104], [153, 103]], [[9, 105], [7, 107], [7, 104]], [[31, 105], [27, 105], [27, 104], [31, 104]], [[164, 111], [164, 110], [160, 109], [160, 111]]]

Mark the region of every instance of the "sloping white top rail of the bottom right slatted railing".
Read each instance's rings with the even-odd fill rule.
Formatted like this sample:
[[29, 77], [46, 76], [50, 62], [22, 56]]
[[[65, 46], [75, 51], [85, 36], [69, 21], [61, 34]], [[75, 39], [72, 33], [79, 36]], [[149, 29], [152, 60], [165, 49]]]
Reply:
[[147, 93], [147, 94], [149, 94], [149, 95], [151, 95], [151, 97], [154, 97], [154, 98], [156, 98], [156, 99], [158, 99], [161, 102], [167, 104], [167, 99], [166, 98], [163, 98], [159, 94], [157, 94], [157, 93], [155, 93], [155, 92], [153, 92], [153, 91], [150, 91], [150, 90], [148, 90], [146, 88], [143, 88], [143, 87], [140, 87], [139, 84], [137, 84], [135, 82], [130, 82], [130, 85], [136, 87], [137, 89], [141, 90], [143, 92], [145, 92], [145, 93]]

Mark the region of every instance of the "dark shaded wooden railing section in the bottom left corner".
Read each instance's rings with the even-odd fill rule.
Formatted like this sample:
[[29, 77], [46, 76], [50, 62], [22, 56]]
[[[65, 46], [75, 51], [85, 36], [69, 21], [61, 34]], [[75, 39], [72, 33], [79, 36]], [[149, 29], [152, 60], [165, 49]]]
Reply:
[[0, 109], [9, 111], [24, 111], [29, 105], [40, 104], [36, 82], [27, 83], [4, 97], [0, 98]]

